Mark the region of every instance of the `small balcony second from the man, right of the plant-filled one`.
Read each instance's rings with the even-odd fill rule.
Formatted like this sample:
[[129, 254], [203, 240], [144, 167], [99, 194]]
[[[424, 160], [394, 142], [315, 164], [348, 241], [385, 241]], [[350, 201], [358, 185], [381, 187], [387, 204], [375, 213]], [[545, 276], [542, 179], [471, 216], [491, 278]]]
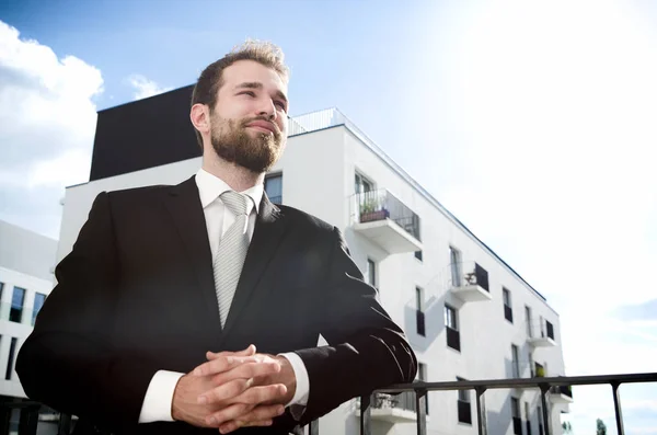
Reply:
[[475, 262], [452, 263], [446, 274], [447, 288], [463, 302], [491, 300], [488, 272]]

